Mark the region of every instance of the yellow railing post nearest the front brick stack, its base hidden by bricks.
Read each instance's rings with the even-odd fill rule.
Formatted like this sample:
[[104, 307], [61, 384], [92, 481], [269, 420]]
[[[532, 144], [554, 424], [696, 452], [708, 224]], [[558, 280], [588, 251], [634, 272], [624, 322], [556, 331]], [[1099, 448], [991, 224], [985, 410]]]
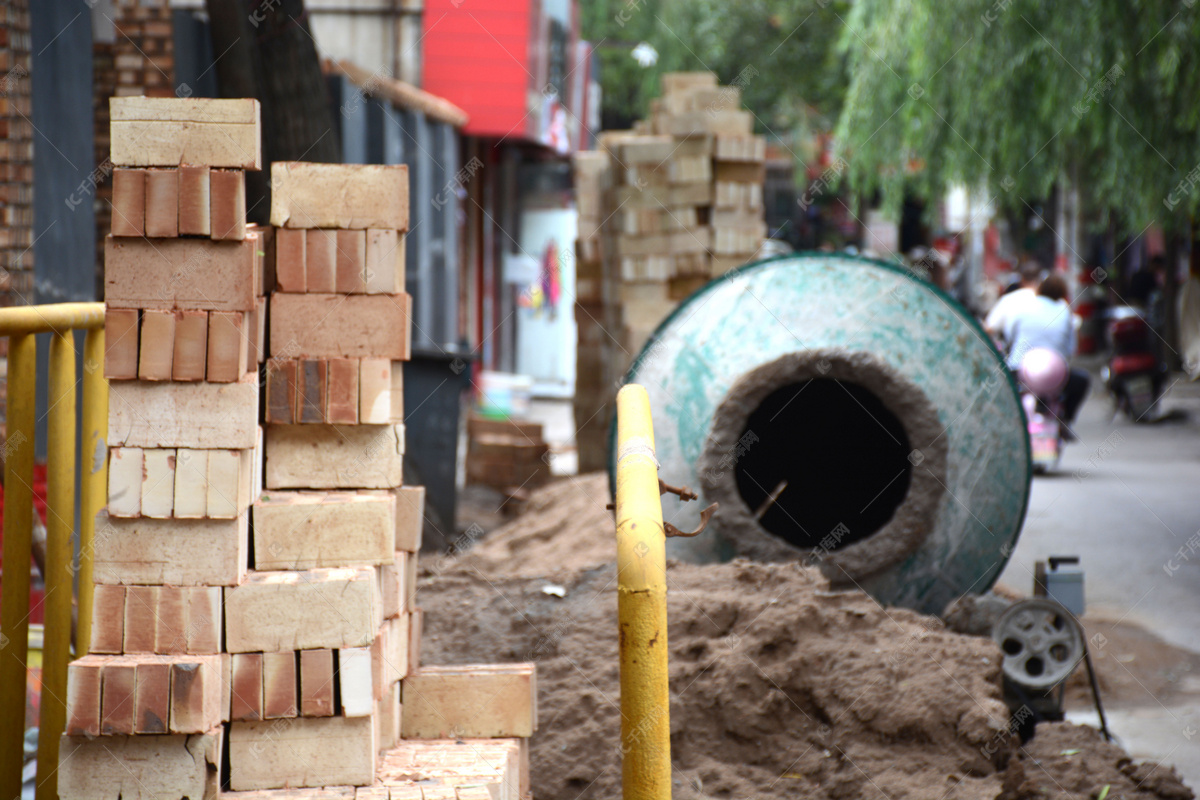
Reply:
[[108, 381], [104, 380], [104, 329], [88, 331], [83, 344], [83, 469], [79, 488], [79, 621], [76, 654], [91, 649], [92, 557], [96, 515], [108, 499]]

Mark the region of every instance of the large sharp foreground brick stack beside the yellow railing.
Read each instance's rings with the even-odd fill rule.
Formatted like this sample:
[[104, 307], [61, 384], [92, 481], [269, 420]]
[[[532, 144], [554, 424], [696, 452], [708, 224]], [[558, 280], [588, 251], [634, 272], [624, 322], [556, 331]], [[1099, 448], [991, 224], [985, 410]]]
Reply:
[[259, 229], [257, 102], [112, 116], [109, 503], [60, 796], [527, 794], [532, 664], [419, 668], [407, 169], [276, 163]]

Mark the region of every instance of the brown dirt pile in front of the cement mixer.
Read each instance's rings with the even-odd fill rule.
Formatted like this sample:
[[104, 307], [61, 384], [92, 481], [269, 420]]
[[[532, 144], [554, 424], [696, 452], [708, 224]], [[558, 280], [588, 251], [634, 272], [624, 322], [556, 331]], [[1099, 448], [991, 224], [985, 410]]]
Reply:
[[[565, 537], [577, 522], [563, 518]], [[422, 661], [536, 661], [534, 795], [619, 796], [613, 567], [527, 557], [520, 571], [553, 584], [505, 577], [474, 558], [487, 547], [500, 543], [421, 581]], [[1043, 726], [1020, 748], [988, 639], [830, 591], [798, 564], [672, 564], [668, 587], [677, 799], [1193, 796], [1086, 728]]]

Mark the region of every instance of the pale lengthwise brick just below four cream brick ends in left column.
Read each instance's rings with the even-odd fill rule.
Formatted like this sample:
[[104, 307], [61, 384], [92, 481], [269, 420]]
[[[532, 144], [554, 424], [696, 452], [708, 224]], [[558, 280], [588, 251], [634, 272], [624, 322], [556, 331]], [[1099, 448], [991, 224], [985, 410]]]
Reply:
[[234, 584], [246, 571], [248, 519], [250, 515], [236, 519], [118, 519], [101, 512], [96, 519], [96, 582]]

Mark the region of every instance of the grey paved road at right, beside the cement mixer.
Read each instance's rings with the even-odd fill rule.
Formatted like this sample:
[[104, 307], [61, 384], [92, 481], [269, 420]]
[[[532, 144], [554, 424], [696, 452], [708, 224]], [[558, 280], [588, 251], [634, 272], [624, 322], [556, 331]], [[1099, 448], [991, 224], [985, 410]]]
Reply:
[[[1186, 419], [1114, 420], [1093, 381], [1076, 425], [1080, 441], [1068, 446], [1057, 475], [1034, 479], [1001, 581], [1030, 591], [1034, 561], [1079, 555], [1088, 618], [1134, 622], [1200, 652], [1200, 386], [1174, 384], [1163, 408]], [[1200, 696], [1193, 697], [1164, 704], [1147, 692], [1134, 708], [1114, 709], [1110, 723], [1135, 756], [1174, 763], [1200, 788]], [[1070, 714], [1080, 722], [1088, 716]]]

